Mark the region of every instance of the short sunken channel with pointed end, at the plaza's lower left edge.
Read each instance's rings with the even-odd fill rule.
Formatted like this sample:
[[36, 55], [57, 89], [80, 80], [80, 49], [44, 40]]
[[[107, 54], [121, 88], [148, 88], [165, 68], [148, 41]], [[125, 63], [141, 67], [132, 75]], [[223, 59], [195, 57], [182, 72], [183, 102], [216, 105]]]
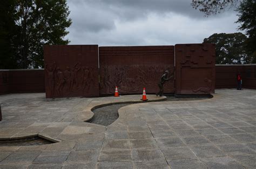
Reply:
[[58, 143], [58, 140], [35, 134], [21, 138], [0, 138], [0, 146], [37, 146]]

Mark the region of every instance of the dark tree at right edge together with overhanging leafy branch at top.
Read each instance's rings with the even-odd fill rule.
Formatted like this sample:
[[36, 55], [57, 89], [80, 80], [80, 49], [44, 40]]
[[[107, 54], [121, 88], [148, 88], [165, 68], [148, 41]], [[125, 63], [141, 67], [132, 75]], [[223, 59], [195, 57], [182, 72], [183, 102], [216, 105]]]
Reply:
[[248, 55], [247, 63], [256, 63], [256, 0], [192, 0], [193, 8], [204, 12], [205, 16], [216, 15], [221, 11], [237, 7], [239, 30], [245, 30], [248, 38], [244, 45]]

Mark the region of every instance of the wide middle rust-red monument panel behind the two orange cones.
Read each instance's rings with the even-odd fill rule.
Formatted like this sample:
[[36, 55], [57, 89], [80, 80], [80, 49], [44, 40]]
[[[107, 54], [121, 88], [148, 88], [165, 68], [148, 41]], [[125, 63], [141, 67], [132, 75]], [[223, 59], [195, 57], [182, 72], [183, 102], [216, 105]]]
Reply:
[[[99, 48], [100, 94], [140, 94], [159, 91], [158, 82], [165, 70], [174, 71], [174, 46], [116, 46]], [[164, 86], [174, 93], [174, 77]]]

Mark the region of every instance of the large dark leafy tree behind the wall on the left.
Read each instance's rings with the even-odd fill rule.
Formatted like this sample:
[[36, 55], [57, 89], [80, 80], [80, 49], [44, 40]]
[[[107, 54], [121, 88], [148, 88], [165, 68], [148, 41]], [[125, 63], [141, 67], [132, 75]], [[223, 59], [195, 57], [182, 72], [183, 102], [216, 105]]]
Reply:
[[[11, 48], [16, 49], [12, 55], [15, 68], [43, 67], [44, 44], [69, 43], [69, 40], [63, 39], [69, 33], [66, 28], [71, 25], [66, 0], [11, 2], [13, 3], [1, 4], [3, 8], [8, 9], [8, 14], [4, 15], [4, 29], [1, 29], [0, 35], [5, 35], [4, 44], [10, 43]], [[7, 35], [14, 40], [8, 41]]]

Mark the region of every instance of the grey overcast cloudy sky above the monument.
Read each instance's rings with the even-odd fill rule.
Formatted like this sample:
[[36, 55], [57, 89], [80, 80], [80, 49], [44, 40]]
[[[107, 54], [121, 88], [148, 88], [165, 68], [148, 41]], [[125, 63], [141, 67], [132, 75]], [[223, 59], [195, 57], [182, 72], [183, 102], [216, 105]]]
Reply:
[[237, 13], [204, 17], [192, 0], [68, 0], [70, 44], [99, 46], [202, 43], [213, 33], [237, 30]]

